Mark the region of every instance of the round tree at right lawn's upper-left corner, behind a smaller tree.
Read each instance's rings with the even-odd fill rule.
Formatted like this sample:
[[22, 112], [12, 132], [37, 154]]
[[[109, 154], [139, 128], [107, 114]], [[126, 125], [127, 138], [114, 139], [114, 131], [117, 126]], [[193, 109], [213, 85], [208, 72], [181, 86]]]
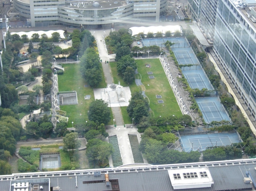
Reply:
[[126, 68], [130, 66], [134, 71], [137, 69], [137, 63], [135, 62], [134, 58], [131, 58], [129, 55], [123, 56], [119, 61], [116, 63], [117, 71], [122, 73], [126, 72]]

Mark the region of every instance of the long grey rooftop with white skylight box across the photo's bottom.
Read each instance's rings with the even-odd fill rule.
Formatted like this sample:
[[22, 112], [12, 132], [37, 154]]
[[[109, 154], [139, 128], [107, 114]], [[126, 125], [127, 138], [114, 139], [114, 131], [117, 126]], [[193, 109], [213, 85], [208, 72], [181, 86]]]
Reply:
[[[41, 183], [46, 185], [46, 182], [43, 180], [49, 178], [50, 187], [59, 186], [60, 190], [65, 189], [67, 191], [103, 191], [114, 189], [122, 191], [174, 191], [175, 185], [173, 180], [170, 179], [169, 172], [173, 174], [173, 172], [184, 173], [185, 171], [186, 173], [199, 173], [198, 176], [201, 176], [200, 172], [203, 172], [203, 174], [207, 174], [208, 180], [212, 184], [208, 188], [190, 187], [180, 189], [180, 191], [254, 190], [252, 184], [244, 183], [244, 177], [247, 177], [248, 171], [250, 171], [251, 179], [256, 179], [255, 167], [256, 159], [243, 159], [140, 167], [31, 172], [0, 176], [0, 190], [10, 190], [10, 184], [14, 182], [36, 183], [40, 187]], [[95, 174], [95, 171], [98, 173]], [[108, 174], [109, 186], [106, 185], [105, 173]], [[188, 178], [186, 180], [183, 179], [183, 184], [186, 184], [187, 180]], [[48, 191], [47, 186], [43, 187], [43, 191]]]

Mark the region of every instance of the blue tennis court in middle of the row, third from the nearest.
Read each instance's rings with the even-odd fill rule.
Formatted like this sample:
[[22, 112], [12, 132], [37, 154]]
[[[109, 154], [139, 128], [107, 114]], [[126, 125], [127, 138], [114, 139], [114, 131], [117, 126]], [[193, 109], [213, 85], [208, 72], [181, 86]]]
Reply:
[[214, 89], [213, 86], [211, 86], [211, 83], [209, 82], [208, 78], [206, 77], [202, 69], [183, 71], [183, 75], [187, 79], [189, 86], [192, 89]]

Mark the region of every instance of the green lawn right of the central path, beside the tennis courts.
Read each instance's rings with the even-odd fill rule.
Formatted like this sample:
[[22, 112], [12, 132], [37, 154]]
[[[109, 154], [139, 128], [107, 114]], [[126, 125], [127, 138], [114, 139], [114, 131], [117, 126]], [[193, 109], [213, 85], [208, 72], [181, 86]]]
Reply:
[[[133, 93], [137, 90], [145, 91], [145, 94], [149, 98], [150, 109], [154, 112], [151, 116], [181, 116], [181, 110], [174, 96], [173, 90], [168, 82], [166, 74], [164, 73], [163, 67], [159, 59], [140, 59], [136, 60], [138, 64], [138, 72], [136, 79], [141, 79], [143, 87], [136, 86], [135, 82], [130, 85], [130, 90]], [[151, 67], [147, 68], [145, 64], [150, 64]], [[128, 86], [122, 80], [122, 75], [117, 75], [116, 63], [110, 63], [114, 82], [121, 82], [122, 86]], [[149, 79], [147, 72], [153, 72], [155, 79]], [[124, 85], [125, 84], [125, 85]], [[149, 86], [148, 86], [149, 85]], [[157, 99], [156, 95], [161, 95], [161, 99]], [[157, 100], [163, 100], [164, 103], [159, 104]], [[123, 118], [126, 114], [122, 109]]]

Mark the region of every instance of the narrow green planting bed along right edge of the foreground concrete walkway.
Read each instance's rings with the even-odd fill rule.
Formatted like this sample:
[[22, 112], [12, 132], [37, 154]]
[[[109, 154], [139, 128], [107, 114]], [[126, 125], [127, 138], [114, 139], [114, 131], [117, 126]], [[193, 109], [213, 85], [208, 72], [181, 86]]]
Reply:
[[129, 137], [129, 141], [130, 141], [130, 145], [131, 145], [131, 149], [133, 152], [133, 159], [135, 163], [144, 163], [143, 158], [142, 158], [142, 154], [139, 148], [139, 141], [137, 138], [137, 135], [134, 134], [128, 134]]

